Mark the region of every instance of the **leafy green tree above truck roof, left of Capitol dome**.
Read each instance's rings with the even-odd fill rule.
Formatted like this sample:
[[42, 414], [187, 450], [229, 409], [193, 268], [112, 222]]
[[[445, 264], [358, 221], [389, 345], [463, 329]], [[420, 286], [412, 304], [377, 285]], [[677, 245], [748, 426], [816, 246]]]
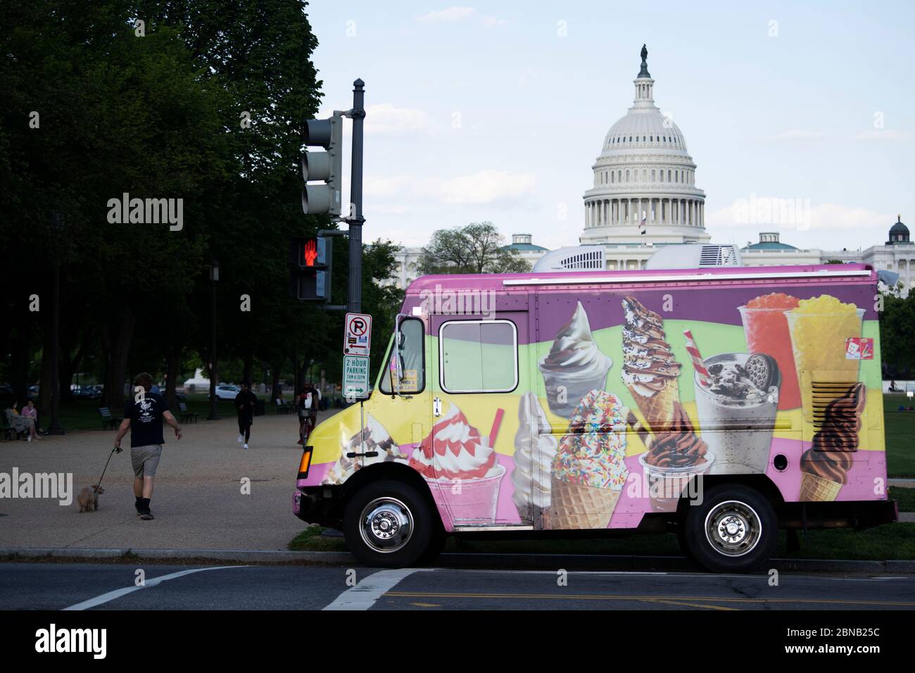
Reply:
[[523, 273], [531, 267], [491, 222], [470, 223], [454, 229], [439, 229], [419, 255], [421, 274]]

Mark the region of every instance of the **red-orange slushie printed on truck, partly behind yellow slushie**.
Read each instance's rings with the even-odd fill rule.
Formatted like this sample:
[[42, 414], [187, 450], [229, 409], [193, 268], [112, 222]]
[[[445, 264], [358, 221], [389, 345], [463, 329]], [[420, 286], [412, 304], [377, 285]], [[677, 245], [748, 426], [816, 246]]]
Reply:
[[801, 389], [794, 366], [791, 348], [791, 331], [785, 311], [796, 309], [798, 299], [781, 292], [773, 292], [750, 299], [746, 306], [737, 307], [744, 324], [749, 353], [769, 353], [779, 364], [781, 387], [779, 408], [796, 409], [801, 406]]

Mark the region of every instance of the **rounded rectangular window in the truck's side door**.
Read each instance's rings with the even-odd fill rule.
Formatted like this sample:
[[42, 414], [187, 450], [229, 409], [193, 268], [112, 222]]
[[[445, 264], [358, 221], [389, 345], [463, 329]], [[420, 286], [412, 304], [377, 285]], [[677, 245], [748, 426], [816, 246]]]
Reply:
[[518, 331], [511, 320], [451, 320], [438, 331], [442, 390], [508, 393], [518, 385]]

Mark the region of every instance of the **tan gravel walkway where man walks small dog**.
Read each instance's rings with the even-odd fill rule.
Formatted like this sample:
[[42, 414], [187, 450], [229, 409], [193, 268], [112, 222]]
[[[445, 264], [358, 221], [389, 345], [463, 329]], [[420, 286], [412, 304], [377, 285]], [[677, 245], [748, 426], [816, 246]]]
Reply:
[[[323, 412], [318, 420], [335, 410]], [[166, 446], [156, 474], [154, 521], [134, 509], [129, 438], [105, 473], [97, 512], [79, 513], [76, 495], [96, 483], [113, 448], [111, 430], [77, 430], [63, 437], [0, 442], [0, 472], [72, 472], [73, 503], [0, 500], [0, 540], [5, 548], [285, 549], [305, 526], [292, 513], [302, 450], [298, 419], [254, 418], [248, 450], [236, 440], [235, 418], [183, 425]], [[251, 494], [241, 480], [251, 480]]]

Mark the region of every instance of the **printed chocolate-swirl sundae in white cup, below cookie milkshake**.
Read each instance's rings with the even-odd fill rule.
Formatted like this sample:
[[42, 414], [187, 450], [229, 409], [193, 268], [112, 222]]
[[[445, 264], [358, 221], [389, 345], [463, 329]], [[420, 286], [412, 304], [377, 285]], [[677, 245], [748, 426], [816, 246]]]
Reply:
[[[643, 434], [635, 418], [630, 418], [630, 425]], [[715, 454], [708, 450], [704, 440], [696, 437], [693, 424], [679, 402], [674, 402], [670, 427], [655, 433], [647, 440], [647, 446], [648, 450], [639, 456], [639, 463], [648, 483], [651, 510], [673, 512], [690, 481], [715, 465]]]

